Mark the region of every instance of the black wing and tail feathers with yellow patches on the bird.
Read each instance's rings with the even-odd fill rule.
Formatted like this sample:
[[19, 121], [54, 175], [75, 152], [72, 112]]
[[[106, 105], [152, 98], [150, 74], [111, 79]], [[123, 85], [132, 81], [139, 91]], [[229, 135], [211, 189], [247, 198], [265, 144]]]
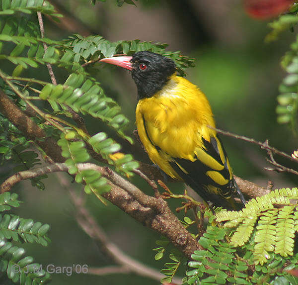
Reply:
[[212, 157], [214, 163], [206, 164], [203, 156], [197, 155], [195, 161], [174, 158], [171, 167], [193, 190], [207, 202], [227, 209], [235, 209], [234, 198], [243, 204], [245, 199], [232, 177], [228, 159], [218, 137], [211, 137], [210, 142], [202, 138], [204, 158]]

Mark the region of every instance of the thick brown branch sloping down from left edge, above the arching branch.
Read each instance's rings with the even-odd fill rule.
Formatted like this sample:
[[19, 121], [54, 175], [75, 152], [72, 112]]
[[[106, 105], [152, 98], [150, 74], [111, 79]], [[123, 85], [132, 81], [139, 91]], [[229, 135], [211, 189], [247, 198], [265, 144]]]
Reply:
[[28, 140], [33, 140], [43, 151], [56, 162], [63, 162], [61, 149], [52, 138], [47, 138], [46, 133], [20, 110], [12, 100], [0, 89], [0, 112], [16, 126]]

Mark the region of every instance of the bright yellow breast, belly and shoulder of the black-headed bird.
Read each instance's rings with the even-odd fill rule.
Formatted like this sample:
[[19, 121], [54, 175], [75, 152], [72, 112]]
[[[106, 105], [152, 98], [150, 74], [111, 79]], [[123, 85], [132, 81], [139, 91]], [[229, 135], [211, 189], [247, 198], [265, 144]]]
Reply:
[[172, 178], [179, 179], [168, 161], [195, 160], [202, 137], [210, 141], [215, 131], [206, 96], [188, 80], [173, 75], [154, 96], [141, 99], [136, 109], [140, 139], [150, 159]]

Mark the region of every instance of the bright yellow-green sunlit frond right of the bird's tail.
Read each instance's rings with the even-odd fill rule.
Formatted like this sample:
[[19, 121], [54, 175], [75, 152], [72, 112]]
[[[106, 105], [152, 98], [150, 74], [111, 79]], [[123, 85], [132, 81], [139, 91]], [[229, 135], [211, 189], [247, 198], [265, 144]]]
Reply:
[[252, 199], [237, 214], [223, 210], [217, 213], [217, 221], [225, 221], [226, 228], [236, 228], [230, 239], [234, 246], [248, 242], [257, 222], [254, 258], [256, 264], [263, 265], [273, 251], [283, 257], [293, 255], [297, 205], [291, 204], [290, 199], [298, 200], [297, 188], [275, 190]]

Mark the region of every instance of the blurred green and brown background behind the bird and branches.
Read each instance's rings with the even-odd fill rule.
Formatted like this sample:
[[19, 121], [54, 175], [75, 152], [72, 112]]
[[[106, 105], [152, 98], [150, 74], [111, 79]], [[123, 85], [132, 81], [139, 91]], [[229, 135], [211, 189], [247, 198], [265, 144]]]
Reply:
[[[168, 50], [180, 50], [184, 55], [196, 58], [196, 67], [187, 70], [187, 79], [207, 95], [219, 128], [260, 141], [268, 139], [272, 146], [287, 153], [298, 148], [291, 131], [277, 124], [275, 113], [278, 86], [285, 76], [280, 60], [294, 41], [295, 33], [286, 31], [277, 42], [264, 43], [269, 31], [268, 21], [249, 18], [242, 1], [139, 0], [137, 6], [124, 4], [122, 7], [117, 6], [116, 0], [97, 2], [95, 6], [90, 4], [90, 0], [50, 2], [65, 15], [65, 19], [55, 23], [45, 18], [47, 37], [64, 39], [80, 33], [85, 36], [100, 34], [110, 41], [140, 39], [168, 43]], [[62, 83], [65, 74], [55, 69], [54, 72], [58, 82]], [[131, 119], [131, 127], [127, 130], [127, 134], [131, 134], [135, 129], [136, 87], [130, 74], [121, 68], [102, 65], [94, 76], [101, 82], [106, 94], [115, 98]], [[43, 77], [47, 78], [48, 74], [45, 72]], [[91, 134], [107, 131], [101, 122], [90, 117], [86, 118], [86, 125]], [[276, 188], [296, 185], [297, 179], [293, 176], [264, 170], [269, 166], [265, 151], [233, 138], [222, 136], [222, 140], [235, 175], [261, 186], [266, 186], [268, 180], [273, 180]], [[124, 150], [134, 153], [136, 159], [149, 162], [140, 146], [130, 147], [122, 143]], [[1, 170], [7, 177], [7, 166], [5, 171]], [[133, 181], [152, 194], [143, 181], [138, 178]], [[113, 265], [76, 224], [74, 206], [55, 175], [50, 175], [45, 184], [45, 191], [36, 190], [29, 182], [14, 188], [24, 201], [17, 213], [51, 225], [49, 237], [52, 243], [49, 247], [25, 245], [27, 254], [45, 266]], [[182, 184], [169, 186], [171, 190], [183, 190]], [[75, 184], [72, 187], [82, 190]], [[170, 204], [173, 209], [178, 205], [177, 201]], [[116, 206], [103, 205], [94, 196], [87, 197], [87, 206], [109, 239], [125, 253], [158, 270], [168, 262], [166, 258], [161, 261], [153, 259], [155, 253], [152, 248], [159, 238], [158, 234], [137, 223]], [[52, 278], [53, 284], [66, 285], [158, 284], [135, 274], [53, 274]]]

